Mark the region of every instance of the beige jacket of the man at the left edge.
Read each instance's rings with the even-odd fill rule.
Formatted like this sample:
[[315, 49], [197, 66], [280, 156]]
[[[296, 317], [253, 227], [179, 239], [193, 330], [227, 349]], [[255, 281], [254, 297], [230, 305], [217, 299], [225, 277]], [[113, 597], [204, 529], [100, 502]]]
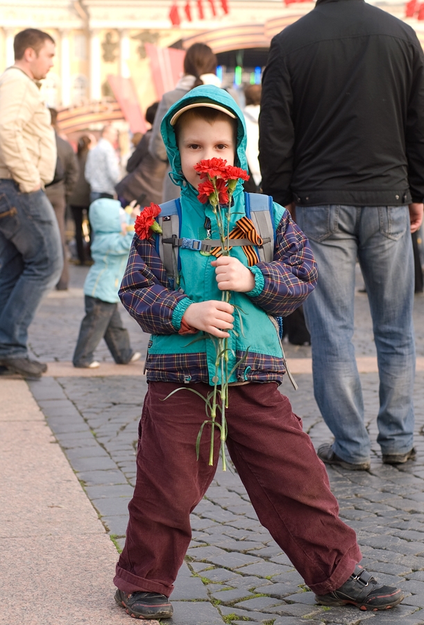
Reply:
[[0, 76], [0, 178], [23, 193], [53, 180], [56, 140], [37, 83], [18, 67]]

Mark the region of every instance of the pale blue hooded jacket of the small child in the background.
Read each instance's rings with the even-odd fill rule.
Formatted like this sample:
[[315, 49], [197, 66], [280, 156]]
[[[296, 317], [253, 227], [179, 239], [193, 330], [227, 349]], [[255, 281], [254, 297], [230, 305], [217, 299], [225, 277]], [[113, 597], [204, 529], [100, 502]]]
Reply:
[[119, 285], [133, 241], [133, 233], [122, 234], [121, 220], [129, 224], [130, 218], [122, 210], [119, 201], [107, 198], [94, 201], [88, 216], [94, 233], [91, 246], [94, 265], [85, 278], [84, 293], [116, 303], [119, 301]]

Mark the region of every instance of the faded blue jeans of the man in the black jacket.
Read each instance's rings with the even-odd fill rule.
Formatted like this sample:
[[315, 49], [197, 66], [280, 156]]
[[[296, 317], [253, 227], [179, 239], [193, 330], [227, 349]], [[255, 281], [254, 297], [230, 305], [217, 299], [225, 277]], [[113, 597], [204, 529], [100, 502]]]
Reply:
[[415, 373], [414, 258], [407, 206], [297, 206], [296, 221], [318, 263], [304, 311], [312, 339], [314, 394], [346, 462], [364, 462], [370, 440], [352, 343], [355, 263], [364, 276], [380, 374], [382, 453], [412, 449]]

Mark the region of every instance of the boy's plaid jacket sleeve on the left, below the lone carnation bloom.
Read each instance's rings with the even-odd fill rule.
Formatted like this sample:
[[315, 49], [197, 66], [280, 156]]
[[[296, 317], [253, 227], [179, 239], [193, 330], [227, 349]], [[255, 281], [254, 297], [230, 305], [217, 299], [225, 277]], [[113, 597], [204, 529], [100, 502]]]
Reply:
[[151, 242], [133, 238], [119, 297], [144, 332], [175, 334], [173, 311], [187, 295], [167, 286], [167, 273]]

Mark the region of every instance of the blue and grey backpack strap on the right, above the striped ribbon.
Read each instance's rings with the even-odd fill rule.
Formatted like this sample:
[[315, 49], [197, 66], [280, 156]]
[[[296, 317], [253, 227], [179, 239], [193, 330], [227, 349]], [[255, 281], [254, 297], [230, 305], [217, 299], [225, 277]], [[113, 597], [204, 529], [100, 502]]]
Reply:
[[[274, 257], [275, 224], [273, 219], [273, 199], [260, 193], [244, 194], [246, 217], [252, 220], [264, 245], [257, 248], [257, 256], [264, 263], [271, 263]], [[268, 242], [265, 242], [268, 240]]]

